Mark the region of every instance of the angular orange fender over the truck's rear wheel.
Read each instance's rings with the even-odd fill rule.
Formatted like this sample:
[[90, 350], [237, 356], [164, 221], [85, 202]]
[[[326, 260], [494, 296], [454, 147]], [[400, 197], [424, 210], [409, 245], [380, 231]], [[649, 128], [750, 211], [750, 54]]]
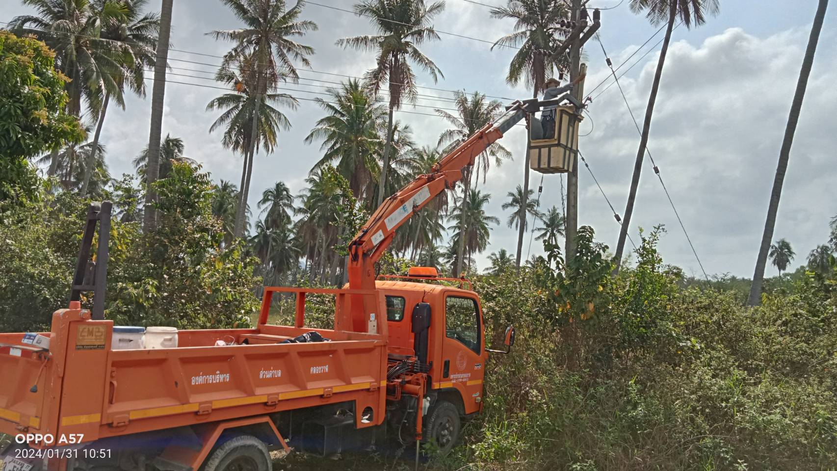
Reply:
[[256, 416], [196, 425], [193, 431], [201, 443], [200, 448], [172, 443], [154, 459], [153, 463], [164, 471], [197, 471], [218, 443], [218, 438], [221, 438], [223, 433], [234, 430], [254, 435], [268, 445], [290, 451], [285, 438], [282, 438], [282, 434], [279, 433], [270, 417]]

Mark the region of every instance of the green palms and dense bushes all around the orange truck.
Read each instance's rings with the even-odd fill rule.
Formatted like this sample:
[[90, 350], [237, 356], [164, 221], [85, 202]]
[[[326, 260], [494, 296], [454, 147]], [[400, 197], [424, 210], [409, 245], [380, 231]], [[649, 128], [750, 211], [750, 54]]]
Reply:
[[[478, 92], [455, 92], [452, 108], [435, 110], [449, 130], [431, 146], [413, 141], [393, 110], [419, 96], [413, 69], [443, 77], [419, 47], [440, 39], [433, 20], [444, 3], [362, 0], [356, 13], [377, 35], [336, 45], [374, 51], [373, 68], [316, 99], [323, 116], [305, 132], [321, 155], [311, 161], [306, 188], [295, 195], [275, 182], [254, 214], [247, 203], [254, 153], [275, 151], [280, 132], [290, 130], [286, 112], [297, 106], [295, 97], [271, 91], [297, 80], [295, 67], [310, 65], [315, 52], [297, 42], [316, 30], [301, 18], [304, 3], [223, 0], [243, 24], [213, 32], [231, 49], [216, 74], [223, 93], [207, 106], [218, 114], [208, 131], [223, 131], [223, 146], [242, 157], [238, 186], [213, 182], [175, 136], [137, 149], [136, 177], [110, 176], [100, 143], [109, 101], [124, 106], [126, 90], [144, 95], [144, 72], [159, 54], [161, 20], [144, 11], [145, 1], [23, 3], [36, 14], [9, 23], [17, 36], [0, 32], [0, 331], [49, 328], [51, 313], [67, 304], [86, 207], [104, 199], [115, 203], [107, 318], [185, 329], [249, 325], [264, 284], [343, 283], [347, 242], [377, 203], [431, 172], [444, 151], [503, 109]], [[701, 24], [717, 7], [715, 0], [630, 4], [668, 23], [665, 44], [675, 19]], [[491, 11], [516, 22], [516, 32], [497, 42], [520, 47], [508, 66], [510, 84], [537, 96], [547, 77], [567, 71], [563, 57], [542, 53], [560, 46], [569, 14], [563, 0], [512, 1]], [[165, 49], [167, 40], [161, 43]], [[655, 95], [656, 86], [649, 110]], [[641, 143], [640, 161], [643, 155]], [[485, 413], [465, 428], [463, 446], [425, 468], [837, 469], [837, 219], [831, 238], [796, 269], [791, 244], [775, 241], [769, 258], [780, 274], [756, 289], [762, 305], [747, 308], [751, 280], [694, 279], [665, 264], [656, 249], [663, 228], [644, 233], [616, 275], [621, 260], [593, 228], [578, 228], [566, 258], [565, 214], [542, 212], [532, 201], [528, 167], [523, 185], [506, 195], [506, 213], [490, 214], [480, 175], [485, 184], [492, 163], [511, 156], [500, 143], [478, 156], [460, 187], [403, 226], [378, 266], [383, 273], [412, 264], [467, 273], [492, 340], [499, 343], [506, 325], [517, 327], [513, 353], [493, 356], [488, 366]], [[38, 164], [49, 164], [45, 177]], [[480, 275], [475, 255], [503, 222], [518, 228], [516, 253], [491, 253]], [[527, 230], [545, 256], [521, 260]], [[325, 299], [311, 296], [310, 304], [311, 325], [331, 325]], [[290, 322], [292, 310], [289, 299], [276, 299], [271, 321]], [[336, 468], [367, 469], [370, 459], [408, 468], [374, 455]]]

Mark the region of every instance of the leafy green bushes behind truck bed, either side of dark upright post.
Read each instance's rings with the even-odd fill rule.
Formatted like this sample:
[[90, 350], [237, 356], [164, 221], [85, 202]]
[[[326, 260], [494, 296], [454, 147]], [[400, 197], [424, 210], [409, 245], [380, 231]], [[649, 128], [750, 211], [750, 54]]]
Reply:
[[[156, 185], [156, 231], [142, 233], [139, 223], [116, 217], [111, 223], [105, 316], [118, 325], [248, 326], [259, 308], [256, 260], [244, 255], [242, 243], [223, 243], [222, 223], [209, 207], [213, 187], [208, 175], [175, 164]], [[136, 204], [131, 197], [111, 196], [116, 214], [136, 212], [136, 207], [121, 207]], [[49, 330], [54, 310], [67, 306], [89, 203], [61, 192], [5, 205], [0, 331]], [[90, 294], [82, 301], [89, 306]]]

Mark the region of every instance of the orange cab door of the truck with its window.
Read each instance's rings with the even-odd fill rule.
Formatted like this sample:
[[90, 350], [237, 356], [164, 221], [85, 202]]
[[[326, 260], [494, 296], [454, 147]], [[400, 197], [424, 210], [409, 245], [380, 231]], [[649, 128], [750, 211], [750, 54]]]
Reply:
[[466, 294], [447, 294], [444, 323], [440, 386], [455, 387], [462, 394], [465, 413], [477, 412], [486, 358], [479, 303]]

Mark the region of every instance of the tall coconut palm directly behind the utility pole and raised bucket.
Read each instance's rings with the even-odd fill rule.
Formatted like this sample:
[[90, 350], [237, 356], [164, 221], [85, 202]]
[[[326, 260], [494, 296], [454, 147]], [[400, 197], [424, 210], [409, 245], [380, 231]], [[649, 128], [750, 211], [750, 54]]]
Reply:
[[[506, 34], [491, 46], [512, 46], [519, 48], [509, 63], [506, 82], [511, 85], [520, 84], [531, 87], [532, 98], [537, 98], [543, 90], [543, 85], [556, 70], [563, 71], [569, 67], [565, 56], [550, 54], [559, 47], [562, 38], [566, 36], [561, 21], [569, 18], [569, 8], [565, 0], [508, 0], [505, 7], [493, 8], [491, 17], [512, 19], [515, 22], [514, 32]], [[528, 155], [528, 144], [526, 154]], [[523, 197], [528, 198], [529, 190], [529, 159], [523, 159]], [[524, 202], [522, 207], [526, 207]], [[522, 212], [521, 220], [526, 221], [526, 214]], [[520, 269], [523, 253], [523, 235], [525, 225], [519, 225], [517, 232], [516, 267]]]

